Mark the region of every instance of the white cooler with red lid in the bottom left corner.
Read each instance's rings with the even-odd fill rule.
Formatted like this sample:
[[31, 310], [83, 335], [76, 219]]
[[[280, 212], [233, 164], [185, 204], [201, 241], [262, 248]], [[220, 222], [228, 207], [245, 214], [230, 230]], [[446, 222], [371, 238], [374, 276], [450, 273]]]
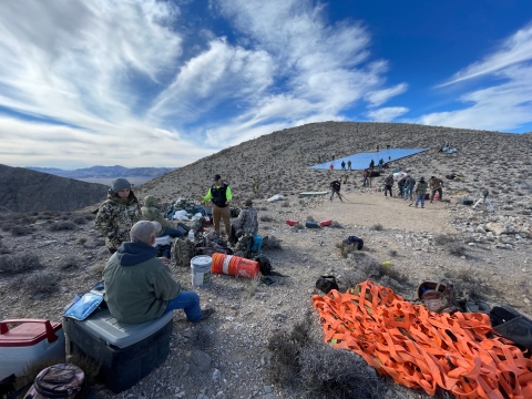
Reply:
[[[18, 326], [9, 328], [9, 325]], [[61, 323], [40, 319], [0, 321], [0, 380], [10, 375], [22, 376], [24, 368], [43, 359], [65, 358]]]

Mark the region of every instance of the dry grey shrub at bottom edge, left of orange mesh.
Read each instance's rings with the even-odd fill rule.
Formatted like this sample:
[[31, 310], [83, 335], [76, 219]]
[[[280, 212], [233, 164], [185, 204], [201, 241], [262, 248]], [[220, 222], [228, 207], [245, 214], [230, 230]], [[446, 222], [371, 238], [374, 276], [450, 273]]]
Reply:
[[306, 398], [382, 398], [386, 385], [358, 355], [337, 350], [313, 335], [311, 318], [268, 339], [274, 382], [304, 391]]

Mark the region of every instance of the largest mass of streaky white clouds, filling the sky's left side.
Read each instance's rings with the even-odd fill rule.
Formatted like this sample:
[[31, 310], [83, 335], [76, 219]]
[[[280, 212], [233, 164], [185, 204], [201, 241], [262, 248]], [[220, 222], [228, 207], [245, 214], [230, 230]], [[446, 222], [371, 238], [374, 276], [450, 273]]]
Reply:
[[313, 0], [214, 3], [232, 41], [181, 12], [156, 0], [0, 2], [0, 106], [43, 121], [0, 115], [2, 162], [178, 166], [406, 90], [381, 90], [387, 62], [370, 60], [369, 33], [330, 24]]

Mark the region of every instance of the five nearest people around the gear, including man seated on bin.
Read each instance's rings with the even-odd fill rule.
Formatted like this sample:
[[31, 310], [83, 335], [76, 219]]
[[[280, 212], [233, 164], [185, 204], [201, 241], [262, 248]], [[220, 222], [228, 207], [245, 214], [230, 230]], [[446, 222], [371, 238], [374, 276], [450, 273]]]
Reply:
[[[219, 175], [215, 175], [214, 184], [202, 200], [214, 204], [213, 222], [218, 235], [221, 219], [233, 244], [245, 234], [257, 234], [257, 212], [250, 200], [244, 201], [243, 211], [231, 224], [228, 205], [233, 194]], [[111, 253], [103, 270], [104, 298], [117, 321], [145, 323], [166, 311], [183, 309], [186, 318], [196, 323], [214, 313], [212, 308], [201, 308], [196, 293], [181, 289], [168, 267], [170, 259], [157, 257], [156, 237], [183, 236], [163, 216], [160, 198], [147, 195], [141, 207], [130, 182], [119, 177], [109, 188], [94, 223]]]

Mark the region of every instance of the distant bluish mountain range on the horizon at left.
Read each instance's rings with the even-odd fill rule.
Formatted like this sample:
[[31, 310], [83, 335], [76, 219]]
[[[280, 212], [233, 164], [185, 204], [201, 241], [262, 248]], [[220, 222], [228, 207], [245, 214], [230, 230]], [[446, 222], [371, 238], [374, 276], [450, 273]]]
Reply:
[[27, 168], [50, 173], [55, 176], [70, 177], [70, 178], [115, 178], [120, 176], [124, 177], [150, 177], [155, 178], [166, 173], [175, 171], [177, 167], [124, 167], [120, 165], [115, 166], [91, 166], [79, 168], [74, 171], [63, 171], [57, 167], [37, 167], [27, 166]]

